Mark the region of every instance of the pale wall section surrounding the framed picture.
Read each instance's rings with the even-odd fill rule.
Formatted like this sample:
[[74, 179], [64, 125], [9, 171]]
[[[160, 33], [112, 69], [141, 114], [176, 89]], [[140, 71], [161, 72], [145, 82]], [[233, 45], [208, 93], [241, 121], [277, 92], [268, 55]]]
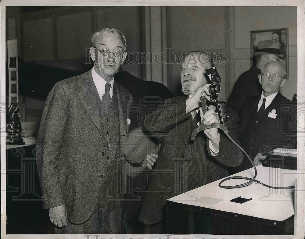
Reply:
[[[289, 7], [230, 7], [230, 90], [241, 73], [250, 68], [250, 31], [288, 28], [289, 79], [281, 93], [289, 99], [297, 93], [297, 9]], [[234, 67], [233, 67], [234, 65]]]

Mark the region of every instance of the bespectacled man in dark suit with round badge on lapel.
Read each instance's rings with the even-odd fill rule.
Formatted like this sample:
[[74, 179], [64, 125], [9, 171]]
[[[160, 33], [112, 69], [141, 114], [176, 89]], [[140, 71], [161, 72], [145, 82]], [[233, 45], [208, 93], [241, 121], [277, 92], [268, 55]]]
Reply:
[[[267, 63], [258, 80], [263, 91], [260, 97], [246, 100], [241, 111], [239, 139], [254, 164], [261, 164], [268, 152], [275, 148], [296, 149], [296, 114], [292, 114], [291, 102], [280, 92], [287, 81], [285, 67], [278, 61]], [[285, 107], [283, 107], [285, 106]], [[262, 155], [263, 154], [263, 155]], [[235, 172], [252, 167], [249, 160], [235, 168]]]

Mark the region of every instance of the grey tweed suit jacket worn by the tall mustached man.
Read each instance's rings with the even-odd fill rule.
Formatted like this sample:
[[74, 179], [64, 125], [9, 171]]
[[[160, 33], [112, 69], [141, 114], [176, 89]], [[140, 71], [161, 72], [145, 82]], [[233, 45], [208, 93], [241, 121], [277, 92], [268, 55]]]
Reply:
[[[128, 106], [132, 98], [116, 82], [114, 88], [120, 122], [116, 134], [120, 158], [124, 159]], [[37, 144], [41, 150], [37, 153], [37, 169], [43, 207], [66, 204], [71, 223], [83, 223], [90, 217], [101, 194], [100, 185], [109, 174], [103, 160], [106, 142], [97, 96], [91, 70], [57, 82], [46, 99], [38, 132]], [[119, 178], [120, 185], [125, 187], [126, 177]]]

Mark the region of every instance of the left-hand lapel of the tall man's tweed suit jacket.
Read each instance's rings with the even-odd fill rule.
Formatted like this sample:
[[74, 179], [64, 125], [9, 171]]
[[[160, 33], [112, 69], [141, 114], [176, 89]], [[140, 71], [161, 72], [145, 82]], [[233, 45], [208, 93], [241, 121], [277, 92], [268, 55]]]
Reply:
[[[101, 120], [101, 114], [99, 110], [99, 100], [97, 98], [98, 92], [93, 82], [91, 70], [87, 71], [82, 75], [78, 84], [83, 88], [79, 93], [79, 97], [84, 107], [86, 108], [90, 119], [94, 123], [95, 127], [98, 129], [99, 134], [103, 140], [103, 126]], [[105, 142], [103, 140], [105, 145]]]

